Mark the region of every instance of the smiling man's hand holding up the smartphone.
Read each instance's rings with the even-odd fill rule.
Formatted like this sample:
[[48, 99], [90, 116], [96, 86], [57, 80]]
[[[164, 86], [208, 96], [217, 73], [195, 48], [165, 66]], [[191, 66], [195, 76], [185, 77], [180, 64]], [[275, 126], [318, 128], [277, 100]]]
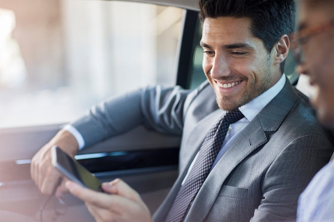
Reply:
[[96, 221], [152, 221], [151, 213], [139, 194], [120, 179], [103, 183], [96, 192], [72, 181], [66, 182], [70, 193], [85, 201]]

